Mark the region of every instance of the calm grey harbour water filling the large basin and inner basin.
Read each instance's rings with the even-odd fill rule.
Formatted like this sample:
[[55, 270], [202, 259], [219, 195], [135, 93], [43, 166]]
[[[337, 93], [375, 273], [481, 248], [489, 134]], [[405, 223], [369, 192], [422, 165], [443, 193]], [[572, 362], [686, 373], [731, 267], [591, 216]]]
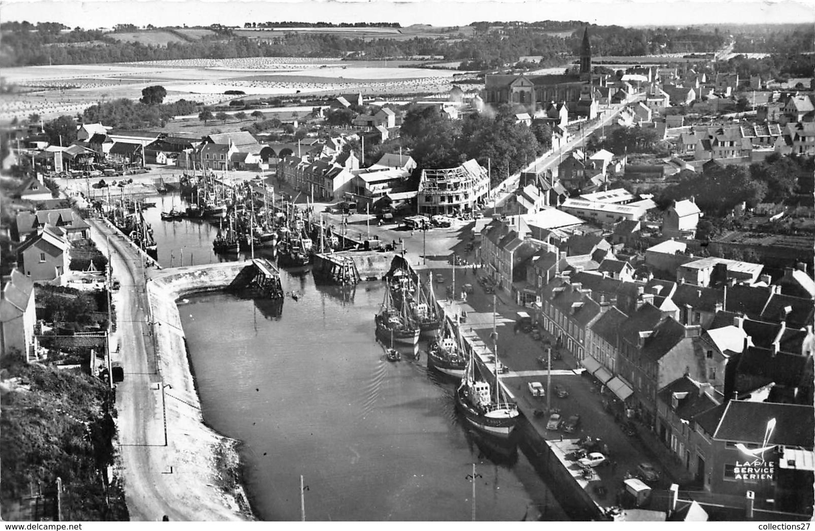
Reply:
[[[161, 199], [147, 217], [162, 265], [170, 249], [218, 261], [216, 227], [160, 213]], [[566, 519], [520, 450], [465, 427], [455, 385], [424, 356], [385, 360], [373, 327], [383, 283], [316, 286], [307, 269], [281, 279], [298, 301], [209, 293], [178, 303], [204, 417], [243, 442], [259, 517], [298, 520], [302, 475], [307, 520], [469, 520], [476, 463], [478, 520]]]

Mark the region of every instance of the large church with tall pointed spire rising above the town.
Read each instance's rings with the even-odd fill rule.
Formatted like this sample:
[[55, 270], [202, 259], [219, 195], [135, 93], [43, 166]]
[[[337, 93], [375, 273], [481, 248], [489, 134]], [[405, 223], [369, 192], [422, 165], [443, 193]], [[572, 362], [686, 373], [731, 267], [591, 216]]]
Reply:
[[597, 90], [605, 85], [605, 79], [592, 75], [592, 46], [588, 42], [588, 27], [584, 30], [580, 46], [579, 72], [548, 76], [488, 74], [484, 82], [484, 103], [493, 106], [501, 103], [523, 105], [533, 116], [540, 115], [553, 103], [565, 103], [570, 116], [588, 120], [597, 116]]

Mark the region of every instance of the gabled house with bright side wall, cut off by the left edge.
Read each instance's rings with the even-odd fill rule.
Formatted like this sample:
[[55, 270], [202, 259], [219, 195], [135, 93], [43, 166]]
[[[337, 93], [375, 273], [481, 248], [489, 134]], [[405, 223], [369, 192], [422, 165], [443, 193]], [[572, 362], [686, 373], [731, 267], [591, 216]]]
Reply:
[[37, 344], [34, 284], [19, 270], [2, 278], [0, 287], [0, 355], [19, 350], [27, 359]]

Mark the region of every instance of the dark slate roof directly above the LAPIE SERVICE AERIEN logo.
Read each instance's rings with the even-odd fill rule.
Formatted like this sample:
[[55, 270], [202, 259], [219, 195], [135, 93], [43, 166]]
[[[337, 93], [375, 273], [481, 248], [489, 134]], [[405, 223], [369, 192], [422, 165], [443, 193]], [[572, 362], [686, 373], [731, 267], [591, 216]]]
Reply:
[[770, 445], [813, 448], [813, 406], [797, 404], [731, 400], [727, 402], [713, 438], [761, 444], [770, 419], [775, 419], [775, 428], [768, 441]]

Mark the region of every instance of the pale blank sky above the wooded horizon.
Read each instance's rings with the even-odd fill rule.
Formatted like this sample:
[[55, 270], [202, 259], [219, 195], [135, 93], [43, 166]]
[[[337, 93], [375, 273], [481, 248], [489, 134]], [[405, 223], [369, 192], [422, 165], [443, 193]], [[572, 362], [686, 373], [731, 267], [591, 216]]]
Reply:
[[811, 0], [0, 0], [0, 21], [243, 25], [245, 22], [399, 22], [435, 26], [478, 20], [584, 20], [592, 24], [815, 23]]

